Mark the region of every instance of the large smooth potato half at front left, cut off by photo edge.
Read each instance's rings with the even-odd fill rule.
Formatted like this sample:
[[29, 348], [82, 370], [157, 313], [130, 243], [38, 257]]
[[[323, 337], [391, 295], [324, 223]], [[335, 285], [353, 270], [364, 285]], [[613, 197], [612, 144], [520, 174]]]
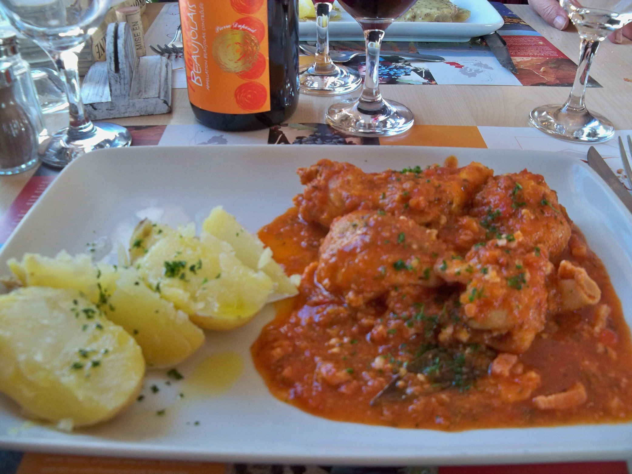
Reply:
[[0, 391], [33, 416], [94, 425], [140, 391], [140, 347], [78, 291], [32, 286], [2, 295], [0, 328]]

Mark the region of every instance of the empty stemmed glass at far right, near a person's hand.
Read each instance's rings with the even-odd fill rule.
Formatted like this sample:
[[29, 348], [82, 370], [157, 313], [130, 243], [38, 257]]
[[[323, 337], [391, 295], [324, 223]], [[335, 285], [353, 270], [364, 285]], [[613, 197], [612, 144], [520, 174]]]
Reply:
[[586, 81], [599, 44], [609, 33], [632, 21], [632, 1], [624, 0], [603, 9], [604, 0], [560, 0], [580, 33], [580, 63], [571, 94], [562, 105], [533, 109], [529, 119], [533, 126], [549, 135], [573, 142], [604, 142], [614, 136], [614, 126], [604, 116], [586, 109]]

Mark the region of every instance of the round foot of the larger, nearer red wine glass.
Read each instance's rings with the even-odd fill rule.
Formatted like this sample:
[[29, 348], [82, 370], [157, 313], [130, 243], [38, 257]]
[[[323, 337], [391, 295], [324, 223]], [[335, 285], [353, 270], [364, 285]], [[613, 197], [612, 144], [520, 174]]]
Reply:
[[[413, 126], [415, 116], [408, 107], [394, 100], [382, 100], [378, 104], [362, 104], [358, 99], [348, 99], [329, 107], [325, 115], [327, 125], [356, 137], [388, 137], [403, 133]], [[368, 111], [363, 106], [377, 110]]]

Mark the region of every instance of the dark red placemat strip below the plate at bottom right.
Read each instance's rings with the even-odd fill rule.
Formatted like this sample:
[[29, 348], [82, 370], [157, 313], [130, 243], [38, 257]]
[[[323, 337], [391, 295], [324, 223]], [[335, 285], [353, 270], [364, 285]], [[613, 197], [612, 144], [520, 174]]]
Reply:
[[439, 474], [629, 474], [625, 461], [506, 466], [446, 466]]

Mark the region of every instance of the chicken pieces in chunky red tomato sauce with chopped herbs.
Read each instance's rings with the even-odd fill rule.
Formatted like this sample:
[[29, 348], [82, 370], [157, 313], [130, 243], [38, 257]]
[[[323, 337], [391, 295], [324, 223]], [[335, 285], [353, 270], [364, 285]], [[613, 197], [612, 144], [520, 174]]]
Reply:
[[632, 420], [621, 303], [542, 176], [454, 157], [298, 174], [295, 207], [259, 232], [303, 272], [252, 347], [274, 396], [406, 428]]

